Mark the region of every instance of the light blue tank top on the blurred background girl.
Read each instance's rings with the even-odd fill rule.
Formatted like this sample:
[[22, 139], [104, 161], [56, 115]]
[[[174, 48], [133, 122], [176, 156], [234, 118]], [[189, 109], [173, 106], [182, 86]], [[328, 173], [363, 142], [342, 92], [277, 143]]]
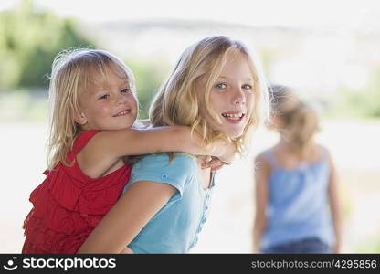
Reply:
[[334, 241], [328, 199], [330, 167], [325, 155], [317, 163], [301, 162], [292, 170], [281, 168], [271, 150], [264, 152], [272, 173], [269, 175], [267, 228], [260, 248], [317, 237], [331, 245]]

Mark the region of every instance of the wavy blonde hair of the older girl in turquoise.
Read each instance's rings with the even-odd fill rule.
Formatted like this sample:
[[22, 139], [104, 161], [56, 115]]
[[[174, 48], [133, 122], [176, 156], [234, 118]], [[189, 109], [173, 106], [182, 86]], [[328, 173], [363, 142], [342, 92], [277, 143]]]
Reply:
[[[247, 127], [242, 136], [232, 140], [224, 132], [213, 130], [200, 115], [200, 106], [205, 101], [206, 111], [216, 121], [221, 122], [216, 112], [210, 108], [210, 91], [215, 84], [227, 54], [242, 54], [248, 62], [254, 79], [255, 105]], [[205, 93], [197, 92], [201, 81], [206, 82]], [[169, 78], [155, 95], [150, 108], [150, 120], [155, 126], [185, 125], [202, 136], [204, 145], [223, 138], [235, 142], [237, 151], [242, 153], [248, 145], [248, 129], [256, 128], [269, 117], [268, 88], [257, 61], [248, 53], [248, 48], [241, 42], [225, 36], [206, 37], [187, 47], [179, 58]]]

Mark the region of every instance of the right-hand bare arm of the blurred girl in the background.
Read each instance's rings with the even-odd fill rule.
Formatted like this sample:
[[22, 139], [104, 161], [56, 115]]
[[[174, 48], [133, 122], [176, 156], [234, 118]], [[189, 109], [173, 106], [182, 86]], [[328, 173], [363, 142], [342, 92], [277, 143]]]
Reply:
[[332, 223], [335, 232], [335, 246], [332, 248], [333, 253], [339, 253], [341, 251], [341, 243], [342, 243], [342, 217], [341, 217], [341, 205], [339, 201], [339, 190], [338, 190], [338, 176], [336, 173], [336, 169], [334, 163], [332, 161], [332, 157], [330, 153], [328, 153], [329, 163], [330, 163], [330, 182], [329, 182], [329, 201], [330, 208], [332, 212]]

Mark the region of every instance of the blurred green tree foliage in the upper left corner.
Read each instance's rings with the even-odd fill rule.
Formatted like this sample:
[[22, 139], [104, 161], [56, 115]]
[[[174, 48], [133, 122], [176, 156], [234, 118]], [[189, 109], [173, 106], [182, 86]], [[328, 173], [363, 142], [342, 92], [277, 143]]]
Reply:
[[51, 63], [68, 47], [94, 47], [73, 19], [37, 12], [30, 0], [0, 13], [0, 88], [46, 87]]

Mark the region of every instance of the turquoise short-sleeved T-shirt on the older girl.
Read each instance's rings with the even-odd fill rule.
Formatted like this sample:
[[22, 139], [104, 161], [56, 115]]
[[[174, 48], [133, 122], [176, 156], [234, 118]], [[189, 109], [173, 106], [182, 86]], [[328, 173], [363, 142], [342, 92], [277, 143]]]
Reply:
[[160, 153], [145, 156], [133, 165], [124, 191], [139, 181], [170, 184], [176, 189], [128, 246], [134, 253], [187, 253], [195, 246], [206, 222], [214, 186], [212, 177], [210, 188], [205, 190], [198, 174], [195, 158], [185, 153], [175, 153], [172, 163], [166, 153]]

